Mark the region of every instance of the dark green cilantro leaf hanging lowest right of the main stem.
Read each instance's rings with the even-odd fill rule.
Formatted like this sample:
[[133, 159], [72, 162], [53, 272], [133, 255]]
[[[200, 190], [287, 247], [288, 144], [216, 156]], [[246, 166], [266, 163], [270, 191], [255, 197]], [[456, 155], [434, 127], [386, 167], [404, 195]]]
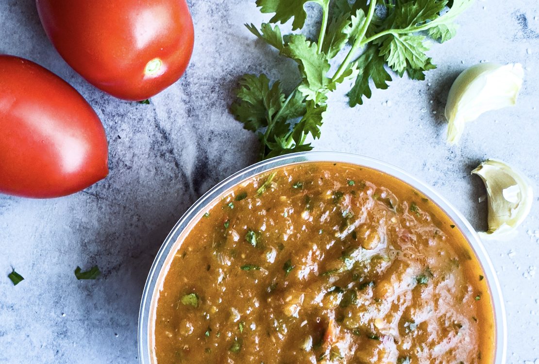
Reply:
[[379, 89], [388, 88], [388, 82], [391, 81], [391, 76], [385, 69], [385, 60], [379, 54], [377, 46], [369, 46], [357, 62], [360, 75], [348, 93], [350, 107], [363, 104], [363, 96], [370, 99], [372, 90], [369, 80], [372, 79], [375, 87]]

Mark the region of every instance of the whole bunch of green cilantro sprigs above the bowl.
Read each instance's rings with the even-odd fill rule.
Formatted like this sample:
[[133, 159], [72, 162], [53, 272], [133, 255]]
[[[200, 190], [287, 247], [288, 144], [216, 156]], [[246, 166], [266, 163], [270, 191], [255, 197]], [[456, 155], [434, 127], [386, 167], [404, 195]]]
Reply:
[[[292, 30], [302, 30], [307, 19], [304, 5], [322, 8], [317, 39], [300, 33], [283, 35], [277, 23], [293, 19]], [[283, 57], [298, 64], [301, 81], [286, 95], [279, 81], [266, 75], [246, 74], [231, 106], [245, 129], [257, 132], [260, 158], [313, 149], [306, 138], [320, 138], [327, 110], [328, 93], [344, 81], [353, 81], [348, 92], [351, 107], [363, 103], [374, 87], [388, 88], [390, 70], [402, 77], [424, 80], [425, 71], [436, 68], [428, 38], [440, 43], [456, 32], [455, 18], [473, 0], [257, 0], [262, 13], [274, 13], [260, 29], [246, 24], [255, 36], [276, 48]], [[350, 44], [351, 47], [347, 47]], [[336, 71], [331, 62], [346, 54]], [[344, 53], [347, 52], [347, 53]], [[341, 59], [340, 57], [339, 59]]]

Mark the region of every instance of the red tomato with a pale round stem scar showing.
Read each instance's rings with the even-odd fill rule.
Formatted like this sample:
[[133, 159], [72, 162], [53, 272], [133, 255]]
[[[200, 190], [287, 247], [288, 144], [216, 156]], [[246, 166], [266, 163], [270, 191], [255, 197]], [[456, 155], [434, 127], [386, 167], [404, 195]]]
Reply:
[[185, 0], [36, 0], [60, 55], [95, 87], [124, 100], [160, 93], [185, 72], [194, 30]]

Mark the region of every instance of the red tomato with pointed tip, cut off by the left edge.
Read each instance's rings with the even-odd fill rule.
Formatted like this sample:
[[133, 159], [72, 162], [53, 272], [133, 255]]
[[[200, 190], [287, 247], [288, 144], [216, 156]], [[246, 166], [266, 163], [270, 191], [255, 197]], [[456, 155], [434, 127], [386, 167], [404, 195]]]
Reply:
[[60, 197], [108, 174], [105, 130], [67, 82], [0, 54], [0, 192]]

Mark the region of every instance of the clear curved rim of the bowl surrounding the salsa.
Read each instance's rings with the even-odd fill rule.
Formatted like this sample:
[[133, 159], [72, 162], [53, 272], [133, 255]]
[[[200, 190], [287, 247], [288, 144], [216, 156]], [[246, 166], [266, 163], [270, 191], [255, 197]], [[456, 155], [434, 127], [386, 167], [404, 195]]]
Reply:
[[141, 364], [154, 364], [153, 355], [153, 332], [156, 312], [156, 303], [159, 290], [163, 284], [164, 277], [167, 274], [168, 268], [174, 254], [181, 246], [182, 241], [179, 240], [186, 231], [190, 230], [193, 223], [198, 221], [202, 212], [207, 211], [209, 206], [212, 206], [220, 197], [230, 191], [234, 186], [241, 182], [250, 179], [257, 174], [264, 173], [277, 167], [303, 163], [303, 162], [335, 162], [335, 163], [350, 163], [360, 166], [375, 169], [390, 176], [396, 177], [406, 184], [409, 184], [417, 191], [423, 193], [427, 198], [436, 203], [450, 218], [455, 222], [455, 225], [466, 236], [475, 256], [478, 258], [490, 289], [495, 319], [495, 360], [493, 364], [505, 364], [507, 352], [507, 322], [505, 306], [500, 289], [500, 283], [496, 277], [496, 273], [490, 258], [487, 255], [485, 247], [479, 236], [460, 212], [457, 211], [445, 198], [434, 191], [431, 187], [418, 180], [411, 174], [392, 166], [388, 163], [381, 162], [377, 159], [355, 155], [351, 153], [341, 152], [302, 152], [268, 159], [263, 162], [254, 164], [241, 170], [229, 178], [213, 187], [206, 192], [194, 205], [192, 205], [181, 219], [176, 223], [163, 246], [157, 253], [154, 264], [151, 267], [139, 313], [139, 360]]

